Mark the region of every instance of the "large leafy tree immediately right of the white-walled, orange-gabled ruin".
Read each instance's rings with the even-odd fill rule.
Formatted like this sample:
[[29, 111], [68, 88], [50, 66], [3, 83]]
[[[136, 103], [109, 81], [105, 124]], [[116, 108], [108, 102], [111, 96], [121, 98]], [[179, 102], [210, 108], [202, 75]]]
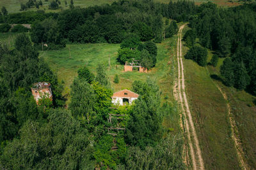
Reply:
[[155, 145], [162, 135], [159, 89], [151, 81], [134, 81], [132, 88], [140, 97], [135, 102], [127, 123], [125, 140], [130, 145], [145, 149], [147, 145]]

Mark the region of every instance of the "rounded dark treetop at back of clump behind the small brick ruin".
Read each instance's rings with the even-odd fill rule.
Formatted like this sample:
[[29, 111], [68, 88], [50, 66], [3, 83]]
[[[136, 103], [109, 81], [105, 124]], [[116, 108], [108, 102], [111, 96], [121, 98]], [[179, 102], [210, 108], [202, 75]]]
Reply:
[[140, 37], [136, 34], [129, 34], [121, 43], [121, 48], [129, 48], [131, 50], [136, 50], [140, 45]]

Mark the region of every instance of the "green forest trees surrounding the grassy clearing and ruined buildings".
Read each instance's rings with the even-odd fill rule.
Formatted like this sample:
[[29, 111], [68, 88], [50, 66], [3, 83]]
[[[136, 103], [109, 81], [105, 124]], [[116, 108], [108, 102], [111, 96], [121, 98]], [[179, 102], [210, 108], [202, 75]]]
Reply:
[[[32, 3], [20, 6], [26, 10], [42, 1]], [[58, 1], [52, 1], [49, 8], [54, 5]], [[184, 57], [202, 67], [216, 67], [225, 58], [218, 79], [256, 95], [255, 3], [219, 8], [213, 3], [196, 6], [192, 1], [122, 0], [88, 8], [72, 4], [58, 13], [8, 13], [4, 9], [0, 32], [20, 34], [13, 46], [0, 46], [2, 169], [186, 169], [182, 135], [172, 134], [162, 124], [164, 115], [178, 111], [164, 102], [156, 81], [132, 82], [131, 90], [140, 94], [138, 100], [129, 106], [113, 106], [106, 66], [99, 64], [97, 74], [84, 66], [77, 70], [67, 106], [64, 82], [38, 57], [39, 50], [60, 50], [78, 43], [120, 43], [120, 64], [139, 60], [141, 66], [152, 69], [157, 63], [156, 43], [177, 34], [177, 23], [186, 22], [191, 29], [183, 37], [189, 47]], [[31, 24], [31, 29], [20, 24]], [[209, 50], [214, 55], [207, 62]], [[38, 81], [51, 83], [52, 101], [42, 99], [36, 104], [31, 85]], [[127, 117], [109, 122], [109, 114]], [[125, 131], [109, 135], [114, 124]], [[255, 168], [255, 160], [250, 161]]]

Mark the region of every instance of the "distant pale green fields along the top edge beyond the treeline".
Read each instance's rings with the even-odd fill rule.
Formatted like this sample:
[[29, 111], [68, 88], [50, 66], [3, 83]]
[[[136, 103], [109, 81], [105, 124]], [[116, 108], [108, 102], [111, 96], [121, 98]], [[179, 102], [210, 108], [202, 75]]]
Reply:
[[[93, 5], [101, 5], [101, 4], [111, 4], [116, 0], [74, 0], [74, 6], [80, 6], [80, 7], [88, 7]], [[169, 3], [170, 0], [154, 0], [155, 2], [159, 3]], [[1, 0], [0, 1], [0, 8], [2, 6], [5, 6], [9, 13], [17, 13], [20, 10], [20, 3], [26, 3], [28, 0]], [[39, 10], [45, 10], [46, 12], [57, 12], [61, 10], [66, 10], [69, 8], [70, 0], [67, 0], [67, 6], [65, 5], [65, 0], [60, 0], [60, 9], [58, 10], [49, 10], [49, 4], [51, 3], [51, 0], [45, 2], [45, 0], [42, 0], [43, 6], [40, 6]], [[195, 4], [202, 4], [207, 3], [208, 0], [195, 0]], [[212, 0], [212, 3], [216, 3], [219, 6], [237, 6], [240, 3], [238, 1], [228, 1], [228, 0]], [[28, 10], [37, 10], [35, 7], [30, 8]]]

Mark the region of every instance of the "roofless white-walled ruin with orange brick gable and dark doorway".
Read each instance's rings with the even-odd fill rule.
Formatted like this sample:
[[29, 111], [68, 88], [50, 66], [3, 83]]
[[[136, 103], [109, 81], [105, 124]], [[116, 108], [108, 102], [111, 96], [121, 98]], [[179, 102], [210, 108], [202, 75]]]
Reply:
[[112, 96], [112, 103], [119, 104], [121, 106], [125, 104], [131, 104], [132, 101], [138, 99], [139, 95], [130, 91], [130, 90], [121, 90], [119, 92], [115, 92]]

